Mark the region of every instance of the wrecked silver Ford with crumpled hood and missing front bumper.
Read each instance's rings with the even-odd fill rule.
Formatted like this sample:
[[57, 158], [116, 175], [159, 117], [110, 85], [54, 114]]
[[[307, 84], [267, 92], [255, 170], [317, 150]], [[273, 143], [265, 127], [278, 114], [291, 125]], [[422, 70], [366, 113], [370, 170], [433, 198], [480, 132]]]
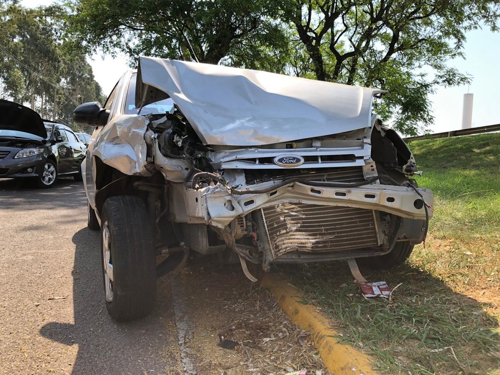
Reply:
[[433, 195], [372, 113], [382, 92], [140, 57], [103, 108], [76, 108], [96, 127], [82, 173], [111, 317], [147, 315], [157, 277], [190, 252], [239, 260], [254, 281], [248, 262], [404, 262]]

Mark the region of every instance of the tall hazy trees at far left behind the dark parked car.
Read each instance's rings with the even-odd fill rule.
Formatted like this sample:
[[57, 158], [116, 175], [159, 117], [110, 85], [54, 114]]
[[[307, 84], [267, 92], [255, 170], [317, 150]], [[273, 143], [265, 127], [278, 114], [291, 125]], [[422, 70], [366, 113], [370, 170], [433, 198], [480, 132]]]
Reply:
[[85, 54], [61, 40], [65, 14], [58, 6], [0, 3], [0, 82], [3, 98], [32, 103], [42, 117], [70, 124], [80, 100], [103, 96]]

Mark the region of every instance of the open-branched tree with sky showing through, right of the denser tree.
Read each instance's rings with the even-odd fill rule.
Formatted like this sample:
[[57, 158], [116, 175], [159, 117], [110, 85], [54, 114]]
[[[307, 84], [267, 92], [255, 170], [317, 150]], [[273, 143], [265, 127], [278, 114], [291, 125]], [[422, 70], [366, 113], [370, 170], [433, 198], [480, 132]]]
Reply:
[[394, 128], [416, 135], [432, 122], [428, 93], [468, 83], [449, 68], [462, 56], [465, 32], [496, 30], [495, 0], [290, 0], [283, 19], [296, 30], [301, 65], [316, 79], [387, 89], [377, 111]]

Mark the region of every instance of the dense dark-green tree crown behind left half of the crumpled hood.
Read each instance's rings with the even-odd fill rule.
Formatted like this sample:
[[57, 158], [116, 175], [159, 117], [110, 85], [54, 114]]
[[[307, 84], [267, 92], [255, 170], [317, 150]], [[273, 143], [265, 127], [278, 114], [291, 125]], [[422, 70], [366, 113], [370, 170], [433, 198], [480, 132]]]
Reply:
[[72, 3], [70, 38], [100, 48], [283, 71], [288, 39], [277, 0], [88, 0]]

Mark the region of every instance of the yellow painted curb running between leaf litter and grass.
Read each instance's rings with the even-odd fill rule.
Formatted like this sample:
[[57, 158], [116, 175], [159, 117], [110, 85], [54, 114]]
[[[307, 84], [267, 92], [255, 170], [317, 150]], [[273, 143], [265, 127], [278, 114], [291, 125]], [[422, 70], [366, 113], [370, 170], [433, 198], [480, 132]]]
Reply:
[[304, 304], [302, 293], [275, 275], [266, 273], [261, 281], [263, 288], [274, 293], [281, 308], [292, 322], [313, 334], [313, 341], [323, 363], [332, 375], [377, 375], [371, 369], [370, 357], [353, 347], [338, 342], [328, 320], [316, 306]]

